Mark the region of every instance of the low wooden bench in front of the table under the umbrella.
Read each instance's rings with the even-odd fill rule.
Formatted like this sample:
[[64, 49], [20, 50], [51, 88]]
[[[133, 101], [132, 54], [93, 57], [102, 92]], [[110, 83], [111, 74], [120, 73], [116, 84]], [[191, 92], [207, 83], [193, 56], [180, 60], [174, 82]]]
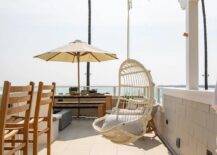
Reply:
[[97, 108], [98, 117], [106, 113], [106, 109], [112, 107], [112, 97], [108, 95], [56, 95], [54, 108], [77, 108], [80, 116], [80, 108]]

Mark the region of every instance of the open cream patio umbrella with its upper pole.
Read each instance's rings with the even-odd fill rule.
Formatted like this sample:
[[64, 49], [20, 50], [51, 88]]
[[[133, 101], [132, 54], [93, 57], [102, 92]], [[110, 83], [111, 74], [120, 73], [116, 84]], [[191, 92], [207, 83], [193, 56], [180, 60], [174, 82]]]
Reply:
[[68, 45], [34, 56], [45, 61], [59, 61], [78, 64], [78, 91], [80, 92], [80, 62], [101, 62], [117, 59], [116, 54], [75, 40]]

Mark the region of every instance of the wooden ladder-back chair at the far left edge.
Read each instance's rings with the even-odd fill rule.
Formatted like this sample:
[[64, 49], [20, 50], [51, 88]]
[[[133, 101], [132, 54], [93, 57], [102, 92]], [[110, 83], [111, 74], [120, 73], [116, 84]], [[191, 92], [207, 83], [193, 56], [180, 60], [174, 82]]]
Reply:
[[[11, 86], [10, 82], [4, 82], [0, 106], [0, 155], [15, 154], [18, 151], [23, 151], [24, 155], [28, 154], [29, 119], [33, 90], [33, 82], [28, 86]], [[24, 117], [19, 122], [7, 123], [7, 120], [10, 120], [14, 114], [23, 114]], [[22, 139], [16, 139], [19, 132], [22, 132]]]

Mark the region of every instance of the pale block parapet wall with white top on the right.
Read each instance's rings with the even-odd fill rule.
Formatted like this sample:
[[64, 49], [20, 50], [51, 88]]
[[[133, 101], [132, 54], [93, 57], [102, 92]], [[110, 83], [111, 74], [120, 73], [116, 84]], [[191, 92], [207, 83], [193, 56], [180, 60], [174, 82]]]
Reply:
[[[155, 123], [159, 136], [176, 154], [217, 154], [214, 92], [164, 89]], [[180, 148], [176, 143], [180, 139]]]

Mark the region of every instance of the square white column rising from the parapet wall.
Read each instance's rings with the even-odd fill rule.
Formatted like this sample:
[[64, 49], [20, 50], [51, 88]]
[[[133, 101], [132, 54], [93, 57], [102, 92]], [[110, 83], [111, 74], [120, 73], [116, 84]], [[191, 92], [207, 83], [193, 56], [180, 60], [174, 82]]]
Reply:
[[186, 86], [197, 90], [199, 79], [198, 63], [198, 0], [188, 0], [186, 10]]

